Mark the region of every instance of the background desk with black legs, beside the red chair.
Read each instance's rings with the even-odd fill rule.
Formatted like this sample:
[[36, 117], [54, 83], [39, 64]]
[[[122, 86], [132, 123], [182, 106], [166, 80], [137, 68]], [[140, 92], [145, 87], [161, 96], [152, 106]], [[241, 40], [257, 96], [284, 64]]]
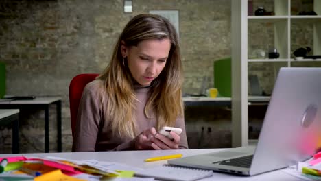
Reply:
[[57, 151], [62, 152], [61, 136], [61, 98], [36, 97], [32, 100], [0, 101], [0, 109], [41, 109], [45, 110], [45, 152], [49, 152], [49, 105], [56, 104], [57, 113]]

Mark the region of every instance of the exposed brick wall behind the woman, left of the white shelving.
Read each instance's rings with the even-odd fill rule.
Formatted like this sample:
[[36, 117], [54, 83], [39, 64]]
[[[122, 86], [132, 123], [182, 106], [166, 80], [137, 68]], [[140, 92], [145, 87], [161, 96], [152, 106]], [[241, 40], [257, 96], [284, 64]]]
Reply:
[[[126, 23], [150, 10], [179, 10], [184, 90], [198, 93], [203, 76], [213, 82], [213, 60], [230, 55], [230, 1], [123, 0], [0, 1], [0, 61], [8, 95], [62, 97], [63, 151], [71, 150], [69, 83], [79, 73], [99, 73]], [[50, 150], [56, 152], [56, 115], [50, 117]], [[21, 152], [44, 152], [44, 112], [21, 113]], [[1, 152], [11, 152], [11, 129], [0, 131]]]

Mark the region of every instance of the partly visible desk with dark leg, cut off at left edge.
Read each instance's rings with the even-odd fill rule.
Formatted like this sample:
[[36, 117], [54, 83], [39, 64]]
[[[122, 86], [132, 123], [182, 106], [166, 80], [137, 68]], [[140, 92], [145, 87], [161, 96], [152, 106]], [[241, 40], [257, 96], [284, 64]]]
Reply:
[[12, 153], [19, 153], [19, 110], [0, 109], [0, 125], [12, 123]]

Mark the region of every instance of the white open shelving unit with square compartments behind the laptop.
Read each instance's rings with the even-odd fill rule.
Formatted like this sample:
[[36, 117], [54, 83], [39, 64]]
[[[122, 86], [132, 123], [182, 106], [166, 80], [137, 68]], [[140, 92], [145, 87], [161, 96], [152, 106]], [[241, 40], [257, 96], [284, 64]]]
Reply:
[[[308, 55], [321, 55], [321, 0], [241, 0], [231, 4], [235, 147], [248, 144], [248, 93], [253, 84], [249, 75], [257, 75], [262, 90], [269, 94], [281, 67], [321, 67], [320, 58], [295, 60], [293, 54], [300, 47], [311, 47]], [[254, 16], [258, 7], [275, 15]], [[318, 15], [298, 15], [303, 11]], [[261, 58], [268, 57], [270, 49], [276, 49], [280, 57]]]

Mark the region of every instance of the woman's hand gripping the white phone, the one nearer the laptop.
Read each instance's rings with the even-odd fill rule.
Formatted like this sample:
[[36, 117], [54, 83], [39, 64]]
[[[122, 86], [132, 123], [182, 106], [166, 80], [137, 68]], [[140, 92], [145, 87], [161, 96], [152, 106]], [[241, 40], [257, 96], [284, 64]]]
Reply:
[[152, 147], [154, 149], [178, 149], [180, 143], [180, 135], [176, 132], [169, 132], [173, 140], [163, 136], [162, 134], [155, 134], [152, 138]]

